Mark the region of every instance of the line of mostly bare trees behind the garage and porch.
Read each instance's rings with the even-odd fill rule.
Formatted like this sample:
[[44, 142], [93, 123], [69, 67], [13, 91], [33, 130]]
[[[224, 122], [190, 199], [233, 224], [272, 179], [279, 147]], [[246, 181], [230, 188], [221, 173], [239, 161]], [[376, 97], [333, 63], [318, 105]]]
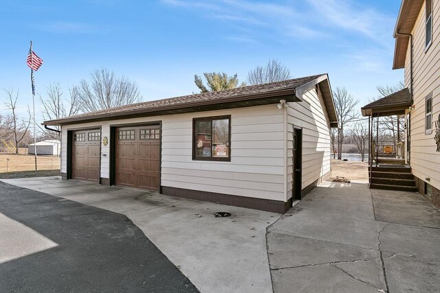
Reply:
[[[203, 73], [203, 77], [206, 80], [206, 85], [203, 84], [203, 80], [199, 75], [195, 75], [195, 85], [201, 93], [278, 82], [292, 78], [289, 69], [278, 60], [269, 60], [266, 65], [257, 66], [250, 70], [247, 80], [241, 83], [237, 74], [228, 76], [224, 72], [206, 72]], [[374, 97], [373, 100], [402, 88], [402, 82], [397, 86], [377, 86], [379, 95]], [[12, 140], [15, 146], [32, 143], [33, 137], [29, 130], [32, 122], [30, 109], [28, 108], [27, 115], [19, 117], [17, 111], [19, 91], [3, 89], [3, 92], [6, 96], [5, 109], [9, 111], [9, 115], [0, 114], [0, 139]], [[344, 145], [344, 139], [347, 137], [354, 141], [353, 144], [358, 148], [358, 152], [362, 155], [362, 161], [364, 161], [364, 155], [368, 151], [368, 125], [359, 120], [360, 115], [355, 109], [359, 100], [349, 94], [344, 87], [337, 87], [333, 91], [333, 99], [339, 125], [336, 130], [332, 129], [330, 133], [332, 151], [338, 155], [338, 159], [341, 159], [342, 146]], [[80, 80], [78, 84], [72, 86], [69, 89], [68, 98], [65, 97], [60, 84], [57, 82], [51, 82], [47, 86], [45, 95], [39, 95], [39, 102], [42, 106], [41, 114], [44, 121], [141, 101], [142, 97], [136, 82], [129, 80], [124, 75], [116, 75], [107, 68], [92, 71], [89, 80]], [[396, 117], [382, 119], [384, 126], [381, 128], [381, 133], [389, 132], [395, 138], [397, 135], [395, 129], [396, 119]], [[39, 140], [61, 139], [60, 133], [46, 130], [40, 125], [38, 127], [37, 137]], [[56, 129], [59, 130], [58, 127]], [[16, 152], [18, 153], [18, 148], [16, 148]]]

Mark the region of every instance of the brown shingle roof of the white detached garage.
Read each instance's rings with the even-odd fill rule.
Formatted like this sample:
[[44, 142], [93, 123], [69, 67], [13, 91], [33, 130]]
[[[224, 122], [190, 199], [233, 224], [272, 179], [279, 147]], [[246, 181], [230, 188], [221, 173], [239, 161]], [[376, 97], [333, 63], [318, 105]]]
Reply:
[[[229, 102], [243, 102], [251, 99], [261, 99], [263, 97], [276, 97], [281, 95], [291, 96], [287, 102], [298, 101], [294, 99], [295, 89], [299, 86], [303, 86], [316, 78], [319, 78], [322, 74], [311, 75], [305, 78], [295, 78], [293, 80], [284, 80], [282, 82], [272, 82], [268, 84], [257, 84], [252, 86], [242, 86], [236, 89], [228, 89], [224, 91], [212, 91], [208, 93], [197, 93], [192, 95], [184, 95], [181, 97], [171, 97], [168, 99], [158, 99], [155, 101], [142, 102], [137, 104], [129, 104], [125, 106], [119, 106], [115, 108], [109, 108], [104, 110], [98, 110], [89, 113], [83, 113], [71, 117], [65, 117], [61, 119], [55, 119], [51, 121], [43, 122], [44, 125], [61, 125], [71, 124], [75, 121], [88, 121], [96, 119], [104, 119], [104, 117], [122, 117], [131, 114], [140, 113], [159, 113], [168, 111], [170, 109], [184, 109], [194, 108], [207, 105], [229, 103]], [[278, 98], [279, 99], [279, 98]], [[244, 105], [243, 105], [244, 106]], [[176, 111], [176, 110], [175, 110]], [[180, 112], [183, 113], [183, 112]], [[159, 113], [157, 115], [164, 115]]]

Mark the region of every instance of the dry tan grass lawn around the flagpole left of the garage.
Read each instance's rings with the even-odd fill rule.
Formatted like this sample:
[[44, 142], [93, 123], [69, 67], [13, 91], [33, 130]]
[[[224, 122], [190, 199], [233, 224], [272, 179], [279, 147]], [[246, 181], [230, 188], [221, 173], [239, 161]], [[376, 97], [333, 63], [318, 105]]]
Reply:
[[[0, 153], [0, 173], [32, 171], [35, 169], [33, 154]], [[37, 156], [36, 169], [60, 169], [60, 158], [56, 156]]]

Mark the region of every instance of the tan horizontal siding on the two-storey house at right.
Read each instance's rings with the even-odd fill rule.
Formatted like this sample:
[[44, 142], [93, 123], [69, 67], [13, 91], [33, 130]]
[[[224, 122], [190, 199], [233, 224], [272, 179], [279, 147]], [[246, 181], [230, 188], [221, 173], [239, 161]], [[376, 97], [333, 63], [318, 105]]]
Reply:
[[[425, 4], [412, 30], [414, 36], [414, 110], [411, 112], [410, 165], [412, 173], [430, 178], [430, 185], [440, 189], [440, 153], [434, 141], [440, 114], [440, 1], [432, 1], [432, 44], [425, 50]], [[405, 85], [410, 88], [410, 46], [406, 54]], [[425, 97], [432, 92], [432, 134], [425, 134]]]

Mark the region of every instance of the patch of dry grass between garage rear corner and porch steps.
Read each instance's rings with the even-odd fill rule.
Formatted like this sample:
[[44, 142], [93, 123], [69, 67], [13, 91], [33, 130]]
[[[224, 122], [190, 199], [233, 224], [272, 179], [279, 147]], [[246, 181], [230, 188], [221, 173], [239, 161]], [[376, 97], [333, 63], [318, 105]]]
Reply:
[[369, 180], [369, 163], [331, 160], [331, 178], [344, 177], [348, 180]]

